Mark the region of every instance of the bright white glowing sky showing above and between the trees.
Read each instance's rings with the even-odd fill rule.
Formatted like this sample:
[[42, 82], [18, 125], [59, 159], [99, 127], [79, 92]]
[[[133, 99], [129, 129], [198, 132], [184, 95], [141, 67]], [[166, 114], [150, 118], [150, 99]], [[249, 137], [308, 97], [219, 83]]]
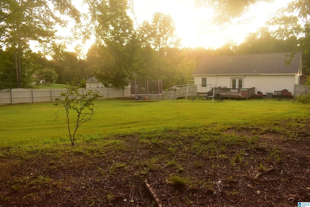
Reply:
[[[250, 8], [248, 13], [240, 19], [243, 24], [232, 24], [227, 28], [219, 28], [211, 24], [214, 12], [210, 8], [197, 8], [194, 0], [133, 0], [135, 17], [134, 21], [141, 24], [143, 21], [152, 21], [155, 12], [171, 15], [176, 35], [181, 38], [181, 46], [188, 48], [219, 48], [228, 41], [241, 43], [249, 32], [255, 32], [281, 7], [285, 7], [292, 0], [274, 0], [273, 3], [259, 3]], [[87, 5], [82, 5], [82, 0], [74, 0], [75, 6], [85, 12]], [[70, 27], [58, 29], [59, 35], [70, 34]], [[93, 43], [88, 41], [84, 46], [84, 53]], [[33, 51], [37, 51], [32, 44]], [[69, 51], [74, 51], [74, 45], [68, 45]]]

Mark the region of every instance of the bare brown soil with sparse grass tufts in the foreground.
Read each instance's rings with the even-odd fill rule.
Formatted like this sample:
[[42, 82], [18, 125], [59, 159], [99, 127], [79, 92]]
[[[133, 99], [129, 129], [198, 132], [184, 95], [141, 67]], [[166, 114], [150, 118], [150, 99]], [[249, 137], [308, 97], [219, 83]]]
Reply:
[[152, 207], [145, 179], [162, 207], [310, 202], [310, 120], [287, 132], [253, 127], [224, 132], [252, 141], [199, 152], [193, 148], [197, 137], [164, 148], [165, 142], [141, 144], [133, 135], [117, 137], [122, 144], [111, 149], [68, 145], [62, 153], [32, 149], [28, 157], [0, 149], [0, 207]]

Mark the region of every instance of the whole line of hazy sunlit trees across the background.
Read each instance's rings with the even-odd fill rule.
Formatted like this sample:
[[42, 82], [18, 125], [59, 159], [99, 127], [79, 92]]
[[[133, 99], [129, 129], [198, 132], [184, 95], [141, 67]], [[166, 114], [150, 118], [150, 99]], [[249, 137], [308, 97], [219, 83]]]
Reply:
[[[225, 2], [223, 2], [225, 1]], [[217, 11], [219, 27], [242, 17], [261, 0], [196, 0], [198, 6]], [[268, 0], [266, 0], [268, 1]], [[95, 76], [105, 87], [125, 87], [129, 80], [163, 80], [163, 87], [191, 82], [191, 73], [203, 56], [302, 51], [309, 74], [308, 1], [296, 0], [280, 10], [263, 28], [241, 44], [221, 48], [182, 48], [170, 15], [155, 13], [151, 22], [136, 25], [132, 0], [84, 0], [89, 10], [80, 13], [72, 0], [2, 0], [0, 2], [0, 89], [31, 88], [40, 80], [56, 83], [85, 82]], [[238, 9], [236, 9], [238, 8]], [[295, 15], [297, 14], [297, 15]], [[67, 18], [64, 18], [66, 16]], [[75, 23], [73, 39], [57, 36], [56, 26]], [[86, 57], [66, 44], [95, 42]], [[31, 51], [30, 42], [43, 48]], [[52, 59], [47, 59], [46, 55]]]

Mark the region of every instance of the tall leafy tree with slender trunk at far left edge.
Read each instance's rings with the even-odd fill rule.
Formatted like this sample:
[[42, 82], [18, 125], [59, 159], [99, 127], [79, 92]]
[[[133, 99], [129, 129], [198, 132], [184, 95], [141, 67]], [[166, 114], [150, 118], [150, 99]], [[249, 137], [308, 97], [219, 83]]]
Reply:
[[29, 41], [48, 44], [55, 36], [54, 26], [65, 25], [62, 19], [55, 15], [75, 17], [79, 14], [71, 4], [71, 0], [3, 0], [0, 3], [0, 47], [14, 49], [14, 64], [16, 70], [16, 87], [22, 85], [23, 53], [29, 49]]

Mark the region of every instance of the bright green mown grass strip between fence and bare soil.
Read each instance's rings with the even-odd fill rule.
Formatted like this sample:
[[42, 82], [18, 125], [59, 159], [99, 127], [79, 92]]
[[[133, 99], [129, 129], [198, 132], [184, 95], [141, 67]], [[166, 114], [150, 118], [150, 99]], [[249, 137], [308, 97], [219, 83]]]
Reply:
[[[178, 128], [271, 127], [281, 119], [309, 117], [309, 105], [276, 99], [195, 101], [95, 101], [93, 119], [77, 136], [155, 133]], [[0, 147], [70, 143], [64, 109], [53, 103], [0, 106]], [[58, 111], [58, 118], [57, 117]], [[71, 112], [72, 120], [76, 114]]]

